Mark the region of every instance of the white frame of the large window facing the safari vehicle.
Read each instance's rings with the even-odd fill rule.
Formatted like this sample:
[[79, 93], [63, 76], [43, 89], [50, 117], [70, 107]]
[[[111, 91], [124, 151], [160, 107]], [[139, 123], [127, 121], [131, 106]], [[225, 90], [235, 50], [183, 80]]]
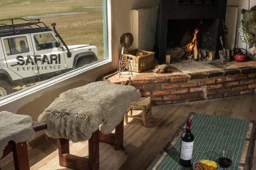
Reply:
[[[113, 64], [112, 62], [112, 44], [111, 44], [111, 0], [102, 0], [102, 9], [103, 9], [103, 33], [104, 33], [104, 55], [105, 59], [100, 60], [99, 62], [87, 65], [79, 69], [69, 71], [67, 73], [61, 74], [59, 76], [53, 77], [51, 79], [45, 80], [44, 82], [39, 82], [37, 85], [31, 87], [26, 87], [20, 91], [17, 91], [8, 96], [0, 98], [0, 107], [15, 100], [29, 96], [40, 90], [47, 90], [47, 88], [54, 88], [54, 85], [61, 83], [63, 81], [68, 81], [73, 77], [78, 76], [79, 74], [87, 74], [89, 79], [96, 79], [102, 70], [110, 68]], [[92, 78], [93, 77], [93, 78]]]

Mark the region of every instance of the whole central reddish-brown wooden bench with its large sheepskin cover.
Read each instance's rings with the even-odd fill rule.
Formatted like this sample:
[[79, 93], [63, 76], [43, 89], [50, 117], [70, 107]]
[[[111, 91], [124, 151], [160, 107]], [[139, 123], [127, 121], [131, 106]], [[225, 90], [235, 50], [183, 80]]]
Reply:
[[[46, 134], [58, 138], [61, 166], [98, 170], [99, 142], [112, 144], [115, 150], [122, 147], [124, 114], [130, 103], [140, 97], [140, 91], [132, 86], [91, 82], [60, 94], [38, 116], [38, 122], [47, 123]], [[70, 154], [69, 140], [88, 140], [89, 158]]]

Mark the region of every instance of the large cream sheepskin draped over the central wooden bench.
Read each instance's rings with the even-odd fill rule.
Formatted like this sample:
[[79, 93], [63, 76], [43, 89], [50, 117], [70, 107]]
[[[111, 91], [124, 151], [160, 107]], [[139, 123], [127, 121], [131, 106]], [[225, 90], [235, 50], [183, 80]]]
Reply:
[[140, 91], [133, 86], [92, 82], [60, 94], [41, 113], [38, 122], [47, 123], [47, 136], [82, 142], [99, 127], [102, 133], [111, 133], [130, 103], [140, 97]]

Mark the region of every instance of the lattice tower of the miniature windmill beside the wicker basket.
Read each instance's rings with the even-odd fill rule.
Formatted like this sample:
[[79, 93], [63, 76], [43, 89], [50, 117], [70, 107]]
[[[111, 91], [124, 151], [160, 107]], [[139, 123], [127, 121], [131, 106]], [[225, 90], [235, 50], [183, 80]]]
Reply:
[[131, 74], [131, 77], [133, 77], [132, 71], [130, 71], [131, 62], [130, 62], [129, 59], [127, 59], [127, 57], [128, 57], [128, 48], [126, 48], [126, 53], [127, 54], [124, 54], [124, 51], [125, 51], [125, 48], [123, 47], [122, 48], [122, 52], [121, 52], [121, 56], [120, 56], [120, 59], [119, 59], [119, 65], [118, 65], [118, 68], [117, 68], [117, 74], [119, 74], [119, 78], [122, 78], [121, 74], [126, 69], [126, 70], [128, 70], [128, 74], [122, 74], [122, 75], [130, 75]]

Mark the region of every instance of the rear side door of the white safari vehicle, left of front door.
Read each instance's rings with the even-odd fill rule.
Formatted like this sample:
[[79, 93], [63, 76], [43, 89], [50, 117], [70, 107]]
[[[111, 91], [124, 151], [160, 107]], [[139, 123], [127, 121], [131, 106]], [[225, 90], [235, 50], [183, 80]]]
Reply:
[[[6, 59], [6, 66], [12, 73], [21, 78], [37, 75], [35, 62], [30, 56], [32, 48], [30, 46], [29, 34], [1, 37], [3, 52]], [[12, 76], [13, 77], [13, 76]]]

